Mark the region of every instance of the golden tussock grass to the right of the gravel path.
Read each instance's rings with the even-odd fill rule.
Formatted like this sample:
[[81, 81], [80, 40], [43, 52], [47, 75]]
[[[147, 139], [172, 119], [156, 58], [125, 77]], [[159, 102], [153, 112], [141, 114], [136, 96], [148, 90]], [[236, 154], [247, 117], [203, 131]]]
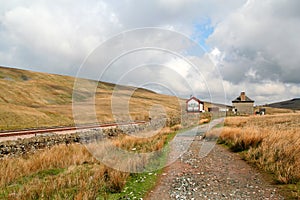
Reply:
[[219, 143], [245, 151], [245, 159], [273, 173], [278, 183], [300, 182], [300, 113], [228, 117], [218, 136]]

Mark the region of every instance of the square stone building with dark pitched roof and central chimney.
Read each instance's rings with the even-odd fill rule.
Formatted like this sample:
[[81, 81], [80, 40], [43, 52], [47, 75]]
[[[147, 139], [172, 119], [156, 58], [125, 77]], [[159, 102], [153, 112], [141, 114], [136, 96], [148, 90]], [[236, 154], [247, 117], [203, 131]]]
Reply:
[[245, 92], [241, 92], [241, 95], [233, 100], [232, 104], [236, 114], [252, 115], [254, 112], [254, 101], [247, 97]]

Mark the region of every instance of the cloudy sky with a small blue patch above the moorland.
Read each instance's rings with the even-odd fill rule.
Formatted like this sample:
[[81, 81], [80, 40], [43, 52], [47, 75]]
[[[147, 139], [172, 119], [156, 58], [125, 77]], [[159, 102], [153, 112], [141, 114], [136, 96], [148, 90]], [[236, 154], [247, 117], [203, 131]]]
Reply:
[[260, 105], [300, 97], [299, 32], [298, 0], [2, 0], [0, 65]]

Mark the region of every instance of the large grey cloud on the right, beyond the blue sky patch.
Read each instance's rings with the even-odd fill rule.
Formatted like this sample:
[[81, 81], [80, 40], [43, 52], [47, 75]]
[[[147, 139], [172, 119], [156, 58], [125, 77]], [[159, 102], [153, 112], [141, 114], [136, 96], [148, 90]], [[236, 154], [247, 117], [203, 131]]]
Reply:
[[216, 26], [208, 43], [226, 55], [224, 78], [299, 84], [299, 8], [298, 1], [252, 0]]

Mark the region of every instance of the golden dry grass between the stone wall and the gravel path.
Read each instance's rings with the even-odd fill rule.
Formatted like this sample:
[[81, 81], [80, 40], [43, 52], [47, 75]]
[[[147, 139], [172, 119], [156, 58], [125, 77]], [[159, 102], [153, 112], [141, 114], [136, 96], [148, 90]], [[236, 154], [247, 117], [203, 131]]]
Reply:
[[[126, 151], [149, 152], [161, 149], [172, 137], [171, 131], [165, 128], [151, 138], [121, 135], [111, 141]], [[124, 164], [138, 168], [148, 162], [144, 158]], [[81, 144], [5, 157], [0, 169], [0, 199], [96, 199], [120, 192], [130, 175], [100, 163]]]

